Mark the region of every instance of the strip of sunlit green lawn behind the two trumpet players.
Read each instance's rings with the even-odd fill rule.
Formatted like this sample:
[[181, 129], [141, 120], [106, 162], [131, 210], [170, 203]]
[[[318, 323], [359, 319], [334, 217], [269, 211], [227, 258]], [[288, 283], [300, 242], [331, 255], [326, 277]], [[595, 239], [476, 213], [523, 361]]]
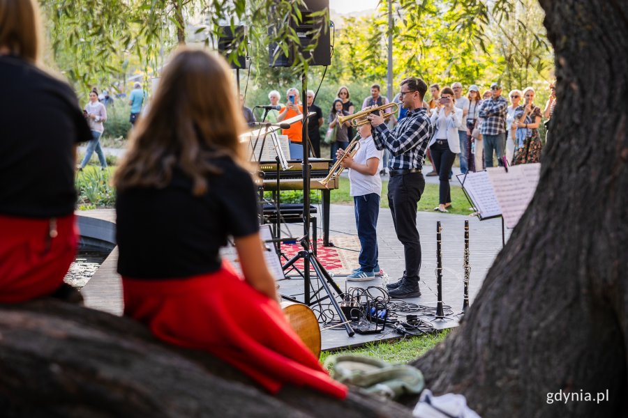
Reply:
[[[381, 208], [388, 208], [387, 193], [388, 180], [382, 180]], [[353, 198], [349, 195], [348, 178], [341, 177], [340, 187], [331, 190], [331, 203], [353, 204]], [[436, 206], [438, 206], [438, 185], [426, 184], [425, 191], [423, 192], [423, 196], [421, 196], [417, 208], [422, 212], [432, 212]], [[451, 206], [452, 207], [448, 209], [449, 213], [455, 215], [469, 215], [471, 213], [469, 210], [469, 201], [465, 197], [462, 187], [458, 187], [454, 185], [454, 183], [451, 183]]]

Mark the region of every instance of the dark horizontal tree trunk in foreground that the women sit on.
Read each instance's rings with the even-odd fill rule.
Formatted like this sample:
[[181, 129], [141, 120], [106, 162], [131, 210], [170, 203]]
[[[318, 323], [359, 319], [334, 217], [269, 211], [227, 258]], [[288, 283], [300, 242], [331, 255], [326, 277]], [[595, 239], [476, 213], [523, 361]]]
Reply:
[[128, 318], [54, 300], [0, 305], [2, 417], [411, 417], [352, 391], [270, 396], [207, 353], [162, 343]]

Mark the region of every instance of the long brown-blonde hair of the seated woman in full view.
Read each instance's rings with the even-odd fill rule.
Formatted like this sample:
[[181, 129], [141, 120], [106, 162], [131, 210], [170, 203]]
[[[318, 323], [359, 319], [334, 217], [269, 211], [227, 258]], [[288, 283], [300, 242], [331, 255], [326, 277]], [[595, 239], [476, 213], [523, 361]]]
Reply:
[[212, 160], [229, 155], [246, 166], [239, 134], [246, 125], [227, 62], [201, 49], [174, 53], [144, 118], [116, 172], [119, 189], [165, 187], [179, 167], [193, 194], [207, 192], [207, 176], [220, 174]]

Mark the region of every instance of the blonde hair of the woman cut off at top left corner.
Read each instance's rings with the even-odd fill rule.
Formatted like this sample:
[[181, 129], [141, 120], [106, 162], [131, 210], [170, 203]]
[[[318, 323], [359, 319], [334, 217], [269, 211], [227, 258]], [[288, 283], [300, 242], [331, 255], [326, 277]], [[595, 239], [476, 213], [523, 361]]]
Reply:
[[40, 57], [39, 7], [35, 0], [0, 0], [0, 47], [37, 63]]

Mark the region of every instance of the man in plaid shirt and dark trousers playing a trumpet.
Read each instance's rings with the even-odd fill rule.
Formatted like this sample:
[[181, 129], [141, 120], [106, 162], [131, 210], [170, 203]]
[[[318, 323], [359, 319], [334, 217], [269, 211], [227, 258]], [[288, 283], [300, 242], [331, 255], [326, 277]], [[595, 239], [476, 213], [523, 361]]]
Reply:
[[427, 84], [420, 78], [408, 77], [401, 82], [399, 100], [408, 109], [405, 118], [393, 130], [384, 124], [382, 111], [367, 118], [373, 126], [373, 142], [378, 150], [389, 150], [390, 181], [388, 204], [397, 239], [403, 244], [405, 272], [393, 284], [387, 284], [390, 297], [418, 297], [421, 270], [421, 241], [417, 231], [417, 203], [425, 189], [421, 168], [425, 150], [434, 128], [423, 107]]

